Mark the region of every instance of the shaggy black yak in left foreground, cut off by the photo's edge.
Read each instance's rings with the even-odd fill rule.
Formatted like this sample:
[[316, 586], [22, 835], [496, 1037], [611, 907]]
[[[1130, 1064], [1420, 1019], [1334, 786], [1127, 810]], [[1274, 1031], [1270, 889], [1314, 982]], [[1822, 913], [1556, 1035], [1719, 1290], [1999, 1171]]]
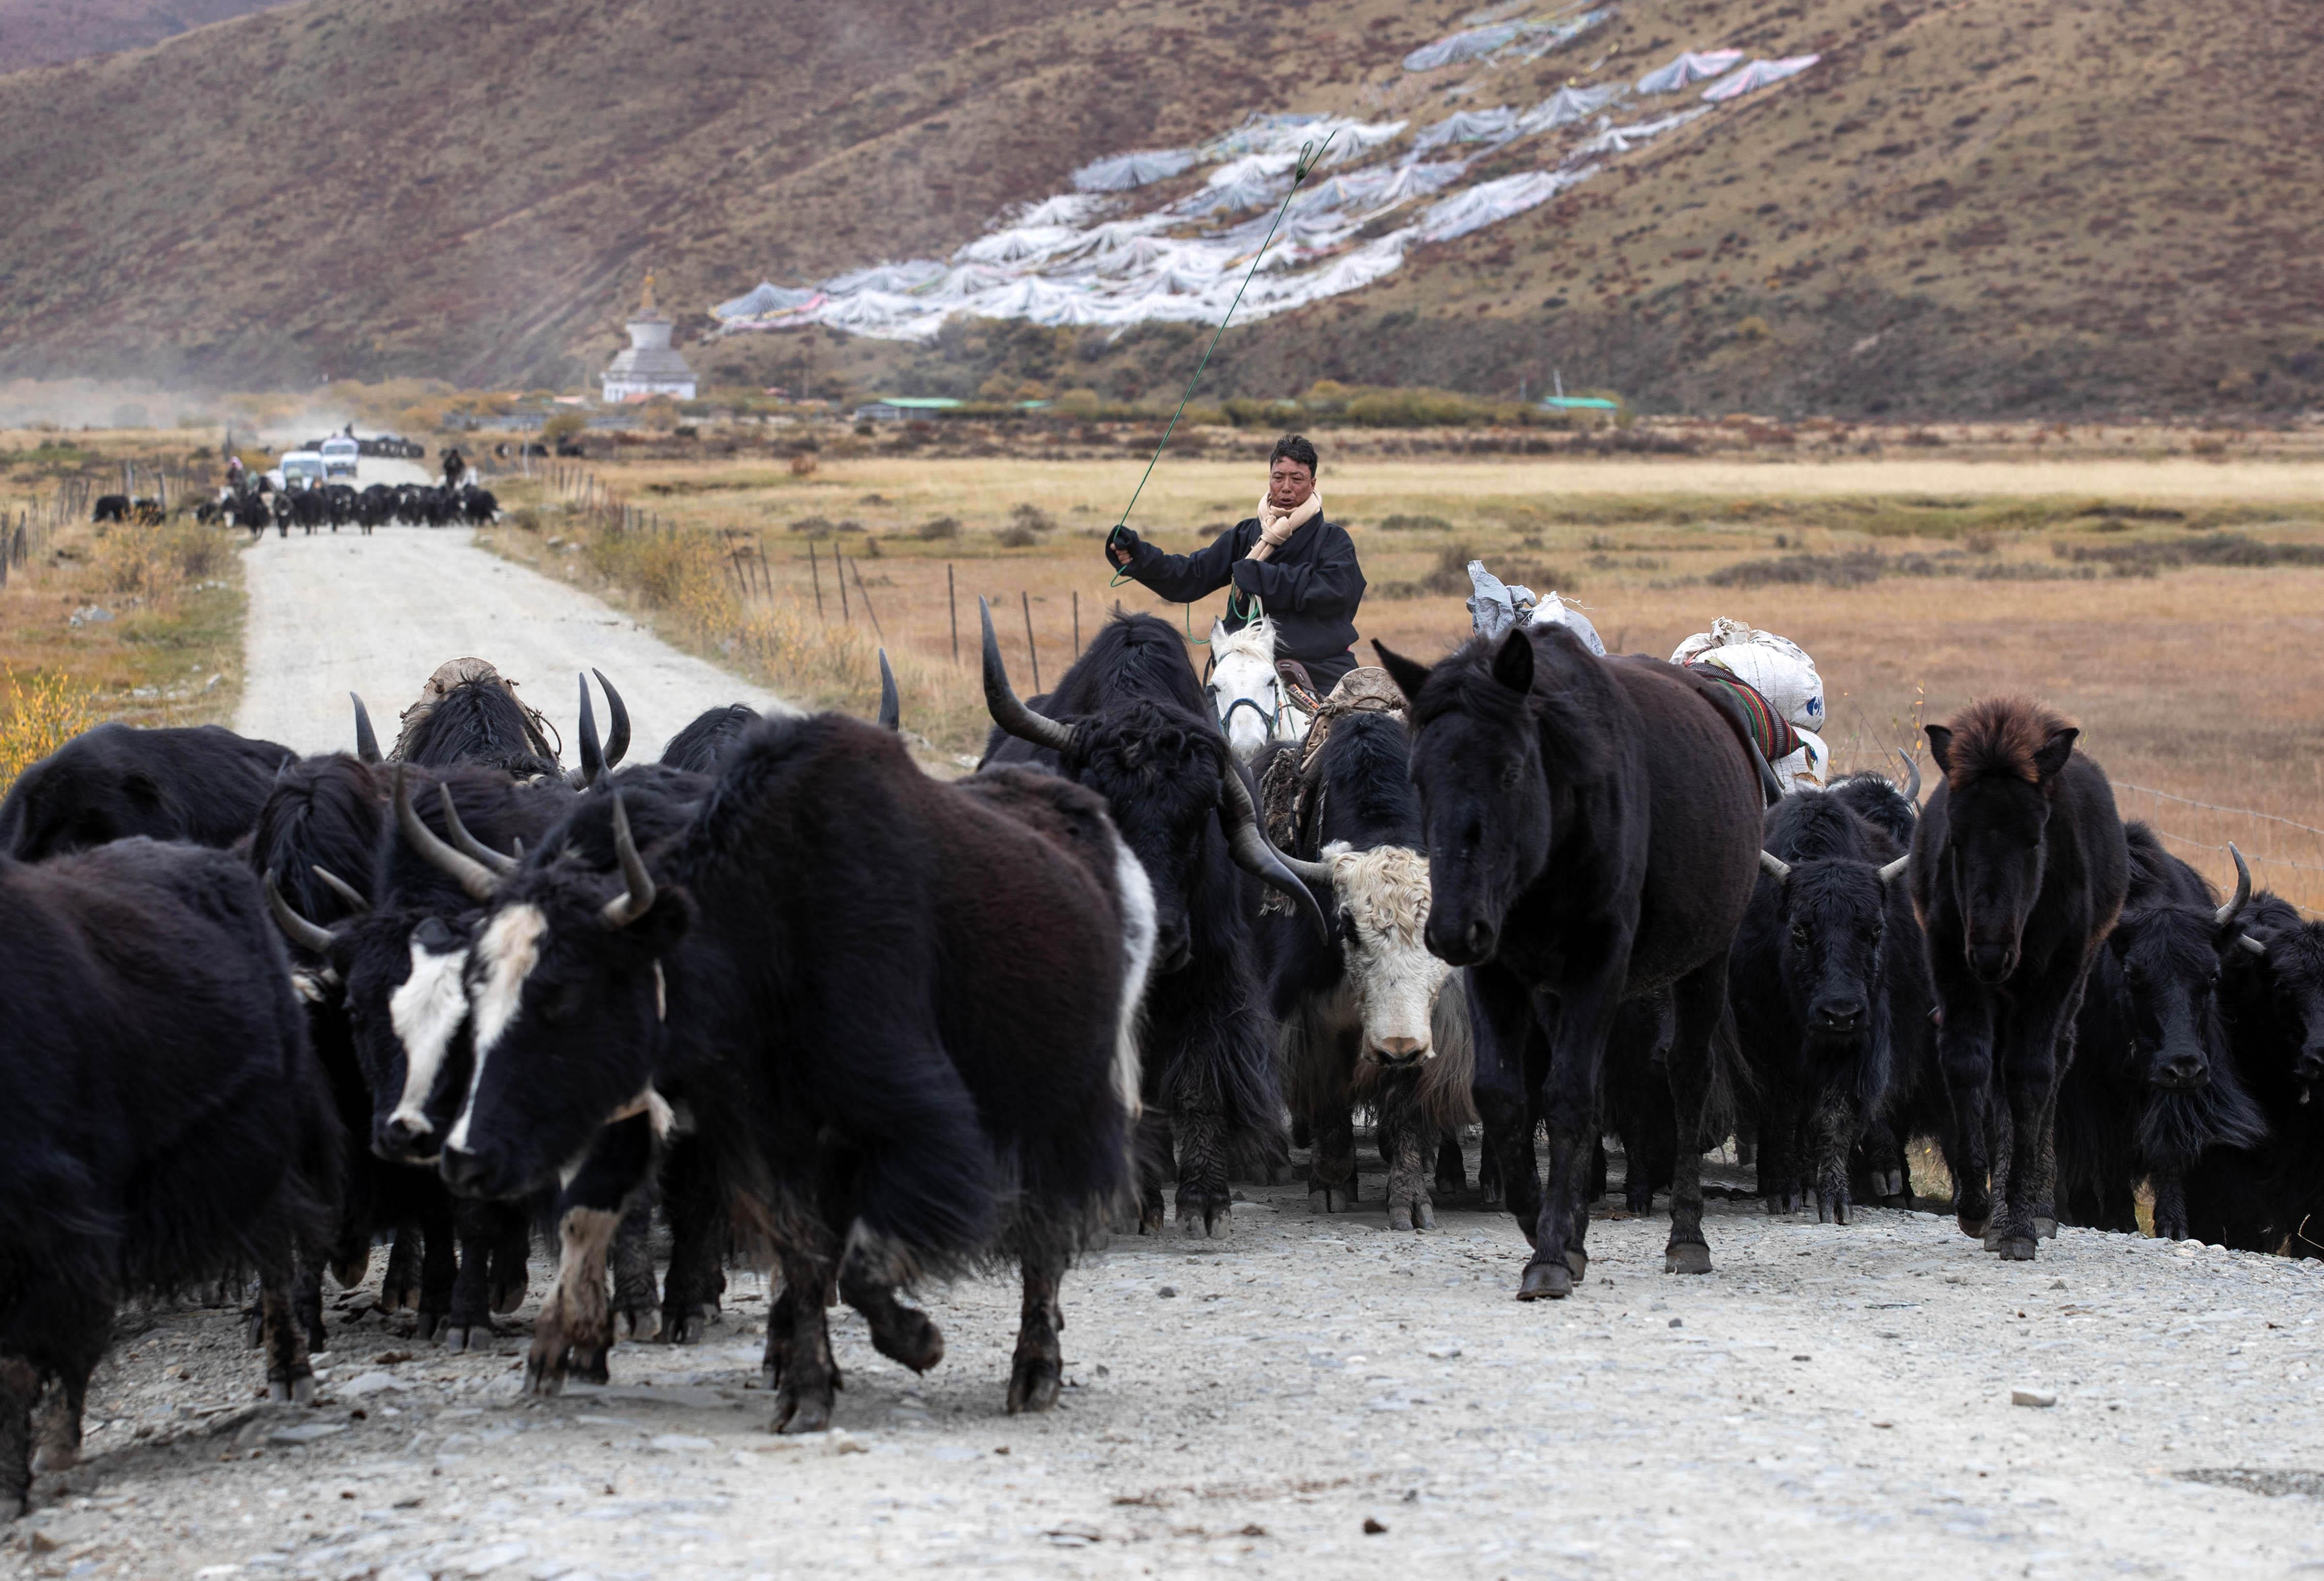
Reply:
[[0, 858], [0, 1511], [81, 1444], [114, 1307], [256, 1269], [270, 1393], [309, 1400], [290, 1311], [328, 1246], [339, 1125], [258, 881], [125, 839]]

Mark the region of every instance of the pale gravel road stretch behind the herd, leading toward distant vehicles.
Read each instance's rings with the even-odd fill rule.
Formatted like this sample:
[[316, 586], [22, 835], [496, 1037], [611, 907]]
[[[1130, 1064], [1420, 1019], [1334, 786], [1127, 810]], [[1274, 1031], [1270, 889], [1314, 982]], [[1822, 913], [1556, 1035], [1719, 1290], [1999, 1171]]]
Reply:
[[[418, 481], [414, 463], [363, 463], [363, 484]], [[390, 472], [393, 470], [393, 472]], [[718, 702], [769, 707], [774, 698], [700, 658], [679, 653], [632, 616], [476, 549], [467, 528], [353, 528], [267, 532], [242, 558], [249, 586], [244, 691], [235, 728], [297, 751], [353, 749], [346, 693], [372, 709], [381, 746], [395, 716], [446, 658], [474, 653], [518, 681], [576, 763], [574, 677], [595, 667], [621, 688], [634, 758]], [[604, 730], [602, 714], [597, 728]]]

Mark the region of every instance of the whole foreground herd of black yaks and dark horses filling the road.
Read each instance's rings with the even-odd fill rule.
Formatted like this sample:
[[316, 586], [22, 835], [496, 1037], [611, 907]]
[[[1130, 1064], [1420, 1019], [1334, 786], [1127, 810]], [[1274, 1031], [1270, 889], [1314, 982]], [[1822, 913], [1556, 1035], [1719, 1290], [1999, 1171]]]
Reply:
[[902, 1297], [1013, 1265], [1006, 1404], [1043, 1409], [1078, 1251], [1160, 1232], [1171, 1188], [1225, 1232], [1287, 1139], [1348, 1209], [1360, 1109], [1397, 1228], [1469, 1186], [1483, 1125], [1527, 1300], [1585, 1279], [1606, 1135], [1634, 1211], [1669, 1190], [1671, 1272], [1710, 1269], [1727, 1135], [1771, 1211], [1836, 1223], [1910, 1207], [1931, 1139], [2001, 1258], [2133, 1230], [2140, 1186], [2161, 1235], [2324, 1239], [2324, 925], [2247, 874], [2212, 895], [2038, 704], [1931, 725], [1922, 804], [1917, 772], [1771, 797], [1727, 688], [1557, 625], [1383, 649], [1401, 709], [1255, 763], [1153, 616], [1030, 702], [990, 614], [983, 663], [957, 781], [892, 684], [876, 723], [737, 704], [625, 763], [583, 679], [567, 767], [476, 660], [386, 753], [356, 700], [353, 753], [100, 725], [26, 770], [0, 1504], [77, 1453], [119, 1300], [253, 1274], [270, 1393], [309, 1400], [321, 1269], [363, 1281], [379, 1242], [381, 1302], [460, 1348], [551, 1235], [535, 1390], [604, 1379], [616, 1332], [697, 1337], [725, 1262], [767, 1258], [790, 1432], [830, 1423], [834, 1300], [927, 1369]]

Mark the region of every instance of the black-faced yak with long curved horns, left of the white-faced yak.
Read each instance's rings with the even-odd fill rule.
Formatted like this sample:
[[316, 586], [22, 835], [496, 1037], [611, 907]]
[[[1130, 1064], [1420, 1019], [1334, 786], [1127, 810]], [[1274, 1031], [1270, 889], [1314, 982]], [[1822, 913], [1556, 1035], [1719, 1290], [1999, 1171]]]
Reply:
[[983, 628], [995, 730], [981, 772], [1030, 765], [1097, 791], [1153, 881], [1160, 942], [1141, 1039], [1139, 1232], [1162, 1230], [1176, 1149], [1181, 1232], [1227, 1235], [1229, 1156], [1281, 1153], [1276, 1030], [1253, 942], [1257, 886], [1287, 895], [1318, 935], [1322, 914], [1260, 832], [1243, 767], [1167, 621], [1109, 621], [1039, 709], [1009, 686], [990, 609]]

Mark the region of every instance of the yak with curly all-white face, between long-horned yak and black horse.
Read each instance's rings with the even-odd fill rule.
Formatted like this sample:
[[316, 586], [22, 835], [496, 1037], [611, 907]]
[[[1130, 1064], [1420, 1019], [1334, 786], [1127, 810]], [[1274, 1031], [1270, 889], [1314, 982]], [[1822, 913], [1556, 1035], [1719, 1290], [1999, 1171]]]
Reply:
[[1292, 846], [1313, 856], [1283, 860], [1325, 897], [1332, 939], [1269, 907], [1262, 944], [1283, 1023], [1283, 1081], [1313, 1137], [1308, 1207], [1355, 1204], [1353, 1109], [1369, 1102], [1387, 1160], [1387, 1228], [1434, 1230], [1429, 1167], [1436, 1190], [1466, 1186], [1459, 1128], [1476, 1121], [1473, 1051], [1466, 997], [1427, 946], [1429, 858], [1404, 723], [1387, 714], [1336, 721], [1308, 765], [1301, 807]]

